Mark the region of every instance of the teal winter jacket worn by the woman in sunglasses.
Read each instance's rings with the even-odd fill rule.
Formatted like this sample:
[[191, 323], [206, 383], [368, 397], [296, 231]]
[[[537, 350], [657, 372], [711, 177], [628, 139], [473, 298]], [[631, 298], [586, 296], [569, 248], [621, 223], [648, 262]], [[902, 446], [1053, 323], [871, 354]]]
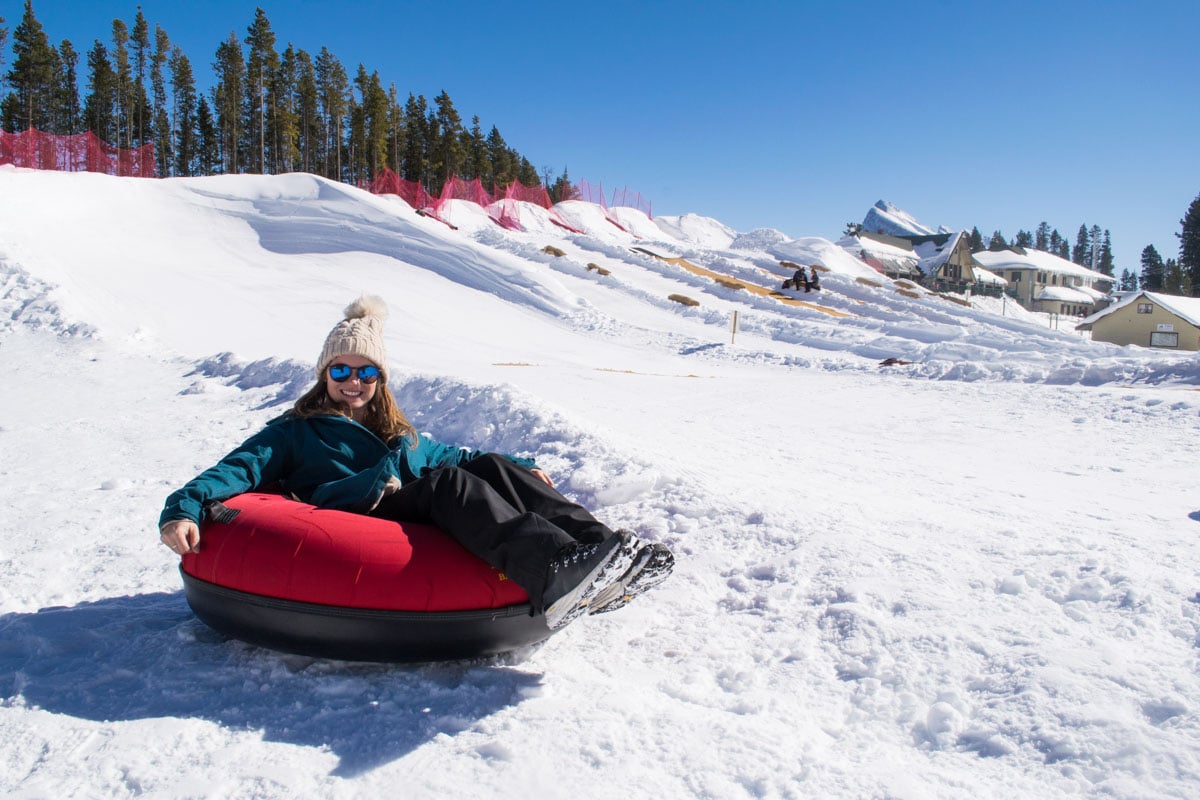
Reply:
[[[479, 450], [444, 445], [424, 435], [384, 443], [358, 422], [335, 414], [286, 414], [172, 493], [158, 525], [172, 519], [200, 522], [204, 505], [277, 485], [286, 494], [324, 509], [367, 511], [397, 479], [403, 486], [438, 467], [457, 467]], [[529, 458], [505, 456], [528, 469]]]

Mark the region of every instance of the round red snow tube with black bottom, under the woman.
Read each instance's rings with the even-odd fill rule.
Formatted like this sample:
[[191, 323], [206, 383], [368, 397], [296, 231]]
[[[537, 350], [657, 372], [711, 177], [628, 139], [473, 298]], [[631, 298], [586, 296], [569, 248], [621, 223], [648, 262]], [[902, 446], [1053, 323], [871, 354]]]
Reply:
[[276, 650], [352, 661], [442, 661], [550, 637], [524, 589], [432, 525], [241, 494], [180, 564], [210, 627]]

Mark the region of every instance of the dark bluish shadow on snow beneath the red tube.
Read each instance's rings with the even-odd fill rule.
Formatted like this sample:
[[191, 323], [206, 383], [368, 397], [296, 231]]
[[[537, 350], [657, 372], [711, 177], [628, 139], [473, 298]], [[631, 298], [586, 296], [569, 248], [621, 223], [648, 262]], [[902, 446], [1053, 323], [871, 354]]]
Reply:
[[353, 777], [536, 693], [505, 660], [371, 664], [280, 654], [197, 620], [181, 591], [0, 616], [0, 694], [84, 720], [196, 717], [328, 747]]

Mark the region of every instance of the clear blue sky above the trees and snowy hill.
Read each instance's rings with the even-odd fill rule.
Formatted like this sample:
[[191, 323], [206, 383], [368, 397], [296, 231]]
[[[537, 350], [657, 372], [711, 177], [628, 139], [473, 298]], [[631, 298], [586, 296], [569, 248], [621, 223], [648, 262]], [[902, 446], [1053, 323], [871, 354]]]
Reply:
[[[1194, 0], [604, 4], [35, 0], [85, 53], [137, 8], [200, 79], [262, 6], [283, 49], [328, 47], [401, 96], [445, 90], [539, 168], [629, 187], [655, 215], [838, 239], [887, 199], [1012, 239], [1111, 231], [1118, 271], [1200, 194]], [[0, 0], [10, 32], [24, 0]], [[5, 53], [5, 66], [11, 61]], [[85, 65], [80, 65], [85, 72]]]

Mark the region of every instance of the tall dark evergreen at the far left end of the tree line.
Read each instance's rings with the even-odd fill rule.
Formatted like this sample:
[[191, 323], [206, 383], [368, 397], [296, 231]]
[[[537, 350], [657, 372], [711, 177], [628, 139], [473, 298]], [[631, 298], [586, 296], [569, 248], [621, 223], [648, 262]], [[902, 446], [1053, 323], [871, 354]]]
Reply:
[[61, 92], [59, 52], [34, 16], [32, 0], [25, 0], [25, 13], [12, 31], [12, 91], [0, 104], [0, 124], [8, 132], [37, 128], [55, 133], [53, 109]]

